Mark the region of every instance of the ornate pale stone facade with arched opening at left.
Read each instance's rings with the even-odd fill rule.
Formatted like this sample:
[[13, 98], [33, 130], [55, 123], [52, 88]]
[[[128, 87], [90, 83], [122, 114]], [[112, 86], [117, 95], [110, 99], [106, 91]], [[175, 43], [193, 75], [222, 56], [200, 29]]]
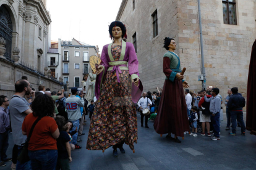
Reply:
[[59, 81], [48, 77], [48, 68], [45, 68], [50, 23], [46, 0], [0, 1], [1, 95], [11, 97], [15, 81], [22, 76], [27, 76], [35, 89], [40, 84], [52, 91], [61, 88]]

